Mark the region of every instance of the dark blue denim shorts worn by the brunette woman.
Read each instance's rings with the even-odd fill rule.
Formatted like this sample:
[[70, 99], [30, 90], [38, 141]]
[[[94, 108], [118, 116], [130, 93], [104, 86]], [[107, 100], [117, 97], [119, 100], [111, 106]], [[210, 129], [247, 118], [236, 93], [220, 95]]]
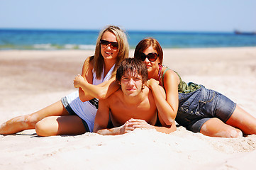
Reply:
[[219, 118], [226, 123], [236, 107], [236, 103], [223, 94], [200, 86], [200, 89], [189, 94], [179, 93], [175, 120], [192, 132], [200, 132], [202, 125], [211, 118]]

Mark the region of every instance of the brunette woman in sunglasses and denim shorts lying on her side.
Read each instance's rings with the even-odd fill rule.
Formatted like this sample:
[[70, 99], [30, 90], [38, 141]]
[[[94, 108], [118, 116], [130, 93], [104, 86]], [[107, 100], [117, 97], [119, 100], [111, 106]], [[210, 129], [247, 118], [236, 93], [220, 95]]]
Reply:
[[[236, 103], [203, 85], [187, 84], [177, 72], [164, 67], [162, 47], [154, 38], [141, 40], [134, 56], [143, 60], [148, 68], [147, 86], [152, 89], [157, 105], [168, 111], [161, 115], [167, 125], [176, 120], [187, 130], [211, 137], [256, 134], [256, 118]], [[157, 95], [158, 84], [165, 89], [166, 100]]]

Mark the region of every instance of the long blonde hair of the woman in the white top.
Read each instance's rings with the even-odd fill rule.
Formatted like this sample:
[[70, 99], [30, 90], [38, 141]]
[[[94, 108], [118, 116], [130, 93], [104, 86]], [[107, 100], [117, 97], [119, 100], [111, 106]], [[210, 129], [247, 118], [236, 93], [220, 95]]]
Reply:
[[121, 30], [121, 28], [119, 28], [118, 26], [107, 26], [104, 30], [101, 30], [101, 32], [99, 33], [99, 37], [96, 41], [96, 48], [94, 53], [94, 70], [96, 72], [97, 79], [101, 78], [104, 67], [104, 58], [101, 55], [100, 40], [106, 31], [109, 31], [116, 35], [116, 40], [118, 42], [118, 55], [116, 57], [116, 65], [113, 69], [112, 77], [116, 75], [116, 69], [121, 61], [123, 61], [125, 58], [128, 58], [129, 56], [129, 45], [124, 30]]

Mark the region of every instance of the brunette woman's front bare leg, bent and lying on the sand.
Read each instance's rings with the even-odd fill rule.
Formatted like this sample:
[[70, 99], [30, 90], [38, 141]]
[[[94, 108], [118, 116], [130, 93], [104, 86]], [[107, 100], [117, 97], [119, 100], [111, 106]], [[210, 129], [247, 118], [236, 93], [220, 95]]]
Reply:
[[211, 118], [202, 126], [200, 132], [211, 137], [242, 137], [243, 132], [223, 123], [218, 118]]

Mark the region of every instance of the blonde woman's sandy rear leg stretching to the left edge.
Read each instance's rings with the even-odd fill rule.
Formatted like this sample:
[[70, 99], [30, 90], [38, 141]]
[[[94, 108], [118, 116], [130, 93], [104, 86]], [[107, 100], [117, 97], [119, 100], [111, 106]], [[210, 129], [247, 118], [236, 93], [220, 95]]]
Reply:
[[62, 105], [62, 102], [57, 101], [35, 113], [21, 115], [8, 120], [0, 126], [0, 134], [13, 134], [23, 130], [34, 129], [35, 124], [38, 123], [38, 121], [52, 115], [69, 115], [69, 113]]

